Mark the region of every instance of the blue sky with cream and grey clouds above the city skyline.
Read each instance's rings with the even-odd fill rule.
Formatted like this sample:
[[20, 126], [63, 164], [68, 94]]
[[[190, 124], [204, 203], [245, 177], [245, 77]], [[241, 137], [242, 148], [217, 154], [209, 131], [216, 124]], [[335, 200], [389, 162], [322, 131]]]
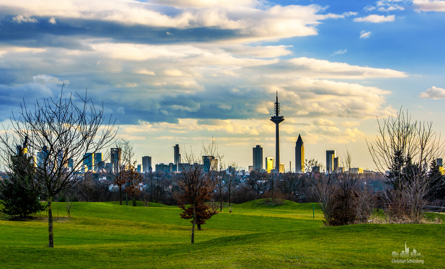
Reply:
[[442, 124], [445, 0], [0, 0], [0, 121], [20, 102], [85, 94], [116, 119], [138, 162], [199, 154], [275, 157], [295, 141], [325, 162], [348, 150], [374, 169], [366, 141], [401, 109]]

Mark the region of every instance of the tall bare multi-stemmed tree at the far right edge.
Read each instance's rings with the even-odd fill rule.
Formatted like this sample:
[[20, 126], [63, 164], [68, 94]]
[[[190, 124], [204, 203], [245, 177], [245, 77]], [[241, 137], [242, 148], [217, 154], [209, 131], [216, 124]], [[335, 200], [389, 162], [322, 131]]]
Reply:
[[433, 132], [432, 122], [411, 121], [408, 112], [400, 111], [383, 122], [377, 118], [377, 122], [379, 134], [376, 140], [367, 141], [368, 150], [378, 171], [385, 175], [385, 183], [391, 186], [388, 199], [398, 212], [407, 212], [407, 217], [419, 222], [435, 180], [428, 177], [427, 164], [443, 155], [444, 143]]

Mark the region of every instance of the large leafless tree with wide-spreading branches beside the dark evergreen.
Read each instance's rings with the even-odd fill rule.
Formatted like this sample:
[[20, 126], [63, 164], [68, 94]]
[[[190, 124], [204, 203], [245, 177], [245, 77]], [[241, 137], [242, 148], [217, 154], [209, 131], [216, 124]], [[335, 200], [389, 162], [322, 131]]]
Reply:
[[[74, 101], [61, 96], [58, 100], [44, 99], [33, 108], [23, 102], [18, 117], [11, 118], [12, 136], [8, 130], [0, 137], [2, 159], [8, 164], [17, 145], [25, 145], [26, 154], [36, 157], [32, 181], [22, 178], [18, 183], [48, 201], [49, 247], [53, 241], [53, 197], [63, 190], [76, 187], [85, 180], [84, 160], [87, 153], [98, 152], [113, 141], [117, 128], [105, 121], [103, 107], [77, 95]], [[6, 128], [5, 128], [6, 129]], [[24, 142], [25, 141], [25, 142]]]

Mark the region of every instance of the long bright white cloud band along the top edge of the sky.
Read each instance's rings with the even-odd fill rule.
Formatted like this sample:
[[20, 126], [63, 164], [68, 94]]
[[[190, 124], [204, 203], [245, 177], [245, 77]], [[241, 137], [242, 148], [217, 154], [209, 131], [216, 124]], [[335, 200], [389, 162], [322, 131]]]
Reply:
[[[316, 35], [320, 20], [344, 18], [356, 12], [343, 14], [319, 14], [326, 8], [317, 4], [264, 5], [263, 1], [246, 0], [210, 1], [219, 4], [204, 4], [206, 1], [162, 1], [162, 5], [174, 4], [178, 14], [166, 15], [154, 8], [152, 3], [135, 0], [48, 0], [41, 4], [35, 0], [3, 1], [6, 8], [22, 10], [21, 21], [31, 21], [29, 16], [52, 16], [84, 20], [113, 21], [129, 25], [145, 25], [165, 28], [211, 27], [234, 30], [234, 40], [277, 40], [292, 36]], [[200, 3], [200, 4], [198, 4]], [[18, 20], [17, 19], [17, 20]], [[168, 33], [166, 33], [168, 35]]]

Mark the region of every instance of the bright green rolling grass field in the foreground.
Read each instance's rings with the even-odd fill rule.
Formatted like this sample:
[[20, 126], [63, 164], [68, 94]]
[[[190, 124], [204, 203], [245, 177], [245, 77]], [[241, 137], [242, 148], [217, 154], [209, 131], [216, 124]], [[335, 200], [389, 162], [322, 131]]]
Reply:
[[[44, 213], [0, 221], [0, 268], [445, 268], [443, 224], [322, 227], [317, 205], [314, 219], [312, 204], [263, 203], [224, 208], [194, 245], [175, 206], [77, 202], [68, 220], [65, 203], [54, 203], [54, 248]], [[405, 241], [423, 265], [391, 262]]]

